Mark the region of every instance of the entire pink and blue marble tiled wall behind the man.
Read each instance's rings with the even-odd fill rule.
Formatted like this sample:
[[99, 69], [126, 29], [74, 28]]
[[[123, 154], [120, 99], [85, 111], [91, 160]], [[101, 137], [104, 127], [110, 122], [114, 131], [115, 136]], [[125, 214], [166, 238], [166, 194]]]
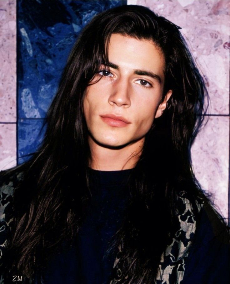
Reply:
[[[68, 51], [82, 26], [94, 14], [126, 3], [46, 2], [17, 3], [20, 22], [16, 110], [16, 1], [0, 1], [0, 170], [26, 160], [22, 156], [34, 151], [41, 141], [42, 134], [38, 134], [44, 115], [56, 92]], [[209, 120], [192, 147], [192, 161], [197, 179], [213, 193], [217, 207], [227, 218], [230, 1], [128, 0], [128, 4], [147, 6], [182, 27], [181, 32], [207, 79]]]

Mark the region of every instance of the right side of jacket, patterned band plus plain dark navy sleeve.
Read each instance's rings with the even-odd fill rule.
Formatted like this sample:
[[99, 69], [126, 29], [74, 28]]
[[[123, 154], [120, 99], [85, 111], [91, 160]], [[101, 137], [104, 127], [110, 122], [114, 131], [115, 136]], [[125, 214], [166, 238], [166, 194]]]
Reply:
[[[158, 281], [163, 283], [230, 283], [229, 230], [205, 197], [178, 194], [177, 226], [162, 255]], [[159, 282], [162, 283], [162, 282]]]

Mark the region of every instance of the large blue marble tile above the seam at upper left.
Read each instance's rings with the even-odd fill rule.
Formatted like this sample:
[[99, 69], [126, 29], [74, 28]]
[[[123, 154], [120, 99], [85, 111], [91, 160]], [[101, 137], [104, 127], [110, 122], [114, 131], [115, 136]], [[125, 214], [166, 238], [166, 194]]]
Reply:
[[18, 1], [19, 118], [44, 118], [81, 29], [127, 1]]

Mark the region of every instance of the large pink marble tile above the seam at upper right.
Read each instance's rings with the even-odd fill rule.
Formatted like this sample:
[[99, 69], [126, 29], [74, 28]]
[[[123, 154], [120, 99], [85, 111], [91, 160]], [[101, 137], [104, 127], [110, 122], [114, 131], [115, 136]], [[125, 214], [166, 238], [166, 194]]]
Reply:
[[209, 113], [228, 114], [230, 1], [128, 0], [128, 4], [146, 6], [182, 27], [180, 31], [207, 78]]

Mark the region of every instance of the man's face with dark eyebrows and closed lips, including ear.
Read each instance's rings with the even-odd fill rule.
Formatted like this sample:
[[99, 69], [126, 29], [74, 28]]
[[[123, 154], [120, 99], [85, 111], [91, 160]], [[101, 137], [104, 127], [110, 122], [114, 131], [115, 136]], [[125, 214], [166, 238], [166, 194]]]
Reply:
[[87, 87], [83, 108], [96, 143], [115, 147], [143, 139], [172, 92], [160, 104], [165, 61], [152, 41], [112, 34], [108, 60], [110, 70], [101, 66], [92, 82], [102, 78]]

